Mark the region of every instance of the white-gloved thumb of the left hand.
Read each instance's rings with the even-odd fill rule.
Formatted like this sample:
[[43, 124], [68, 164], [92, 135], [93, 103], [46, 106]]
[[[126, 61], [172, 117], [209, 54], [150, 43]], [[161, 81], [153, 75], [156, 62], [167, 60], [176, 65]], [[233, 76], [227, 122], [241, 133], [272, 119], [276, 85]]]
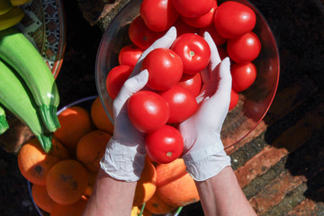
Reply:
[[124, 103], [130, 98], [132, 94], [135, 94], [142, 89], [148, 83], [148, 70], [141, 71], [138, 75], [132, 76], [121, 87], [120, 93], [116, 96], [113, 101], [113, 107], [115, 114], [117, 115]]

